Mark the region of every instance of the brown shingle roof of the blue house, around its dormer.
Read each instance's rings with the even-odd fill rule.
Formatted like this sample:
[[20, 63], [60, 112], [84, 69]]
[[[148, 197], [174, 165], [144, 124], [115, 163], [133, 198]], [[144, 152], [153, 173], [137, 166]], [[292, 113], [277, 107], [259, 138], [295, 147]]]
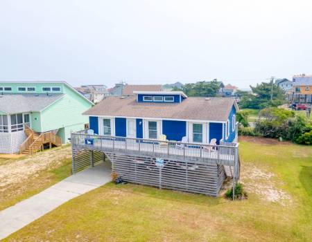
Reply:
[[136, 97], [107, 97], [85, 115], [168, 118], [177, 120], [226, 121], [234, 104], [234, 98], [187, 97], [181, 103], [137, 102]]

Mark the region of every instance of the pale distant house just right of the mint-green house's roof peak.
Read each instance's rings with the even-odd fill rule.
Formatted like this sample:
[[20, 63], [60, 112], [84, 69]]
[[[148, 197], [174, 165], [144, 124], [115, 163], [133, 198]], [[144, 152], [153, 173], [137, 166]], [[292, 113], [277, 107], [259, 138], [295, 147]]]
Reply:
[[110, 93], [107, 91], [104, 85], [86, 85], [76, 88], [77, 91], [82, 93], [87, 99], [91, 100], [95, 104], [101, 102]]

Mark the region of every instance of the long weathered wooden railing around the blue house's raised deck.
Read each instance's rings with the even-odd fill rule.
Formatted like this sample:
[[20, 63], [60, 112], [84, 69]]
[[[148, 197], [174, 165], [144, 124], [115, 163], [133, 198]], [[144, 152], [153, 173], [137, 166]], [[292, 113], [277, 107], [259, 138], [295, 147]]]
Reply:
[[239, 152], [238, 143], [205, 145], [166, 140], [88, 135], [84, 132], [71, 133], [71, 144], [73, 147], [78, 146], [80, 149], [135, 153], [159, 158], [188, 158], [191, 160], [211, 161], [223, 165], [234, 165]]

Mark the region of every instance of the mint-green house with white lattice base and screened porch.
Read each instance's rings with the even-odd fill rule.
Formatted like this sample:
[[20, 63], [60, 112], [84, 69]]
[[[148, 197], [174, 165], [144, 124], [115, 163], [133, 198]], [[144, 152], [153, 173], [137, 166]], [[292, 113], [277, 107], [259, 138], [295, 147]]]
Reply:
[[0, 82], [0, 153], [17, 153], [23, 144], [31, 153], [48, 138], [50, 146], [69, 142], [72, 131], [86, 127], [81, 113], [92, 105], [66, 82]]

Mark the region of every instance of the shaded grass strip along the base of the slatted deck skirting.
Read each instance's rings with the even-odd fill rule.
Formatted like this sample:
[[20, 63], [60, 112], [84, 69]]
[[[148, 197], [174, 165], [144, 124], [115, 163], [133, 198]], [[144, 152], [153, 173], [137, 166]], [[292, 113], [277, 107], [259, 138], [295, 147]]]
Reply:
[[187, 192], [178, 192], [169, 189], [158, 189], [157, 187], [150, 187], [147, 185], [136, 185], [136, 184], [119, 184], [107, 183], [104, 187], [110, 189], [122, 189], [127, 192], [132, 192], [135, 194], [144, 194], [157, 199], [162, 199], [166, 201], [176, 201], [179, 203], [187, 203], [193, 205], [209, 205], [214, 206], [220, 204], [221, 199], [211, 196], [206, 196], [202, 194], [191, 194]]

